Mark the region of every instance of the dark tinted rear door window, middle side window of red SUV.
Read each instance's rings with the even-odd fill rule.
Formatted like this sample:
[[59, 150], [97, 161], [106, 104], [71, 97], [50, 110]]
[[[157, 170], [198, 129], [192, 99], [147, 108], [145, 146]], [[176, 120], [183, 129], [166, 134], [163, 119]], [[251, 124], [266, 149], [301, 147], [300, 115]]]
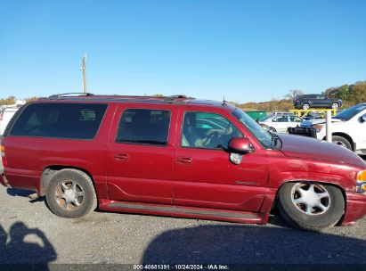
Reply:
[[117, 143], [167, 145], [171, 112], [129, 109], [119, 121]]

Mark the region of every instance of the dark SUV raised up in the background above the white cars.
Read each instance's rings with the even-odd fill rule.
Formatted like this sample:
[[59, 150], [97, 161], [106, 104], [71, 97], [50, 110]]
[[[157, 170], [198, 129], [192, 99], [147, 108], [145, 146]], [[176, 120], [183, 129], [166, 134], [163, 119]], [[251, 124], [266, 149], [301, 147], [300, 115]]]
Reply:
[[304, 94], [294, 99], [296, 109], [310, 108], [332, 108], [338, 109], [342, 106], [342, 100], [329, 99], [321, 94]]

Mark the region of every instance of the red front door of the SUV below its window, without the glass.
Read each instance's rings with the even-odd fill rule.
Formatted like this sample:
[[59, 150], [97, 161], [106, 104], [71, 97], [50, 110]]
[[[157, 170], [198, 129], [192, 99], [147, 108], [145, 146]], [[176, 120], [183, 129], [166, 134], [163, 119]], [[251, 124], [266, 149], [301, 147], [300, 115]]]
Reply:
[[[183, 114], [179, 119], [183, 121]], [[188, 125], [188, 122], [183, 121], [183, 124]], [[184, 132], [178, 131], [176, 138], [179, 144], [175, 149], [175, 205], [259, 210], [268, 174], [267, 159], [261, 154], [264, 152], [258, 150], [244, 155], [240, 165], [234, 165], [229, 152], [214, 149], [212, 144], [199, 145], [198, 148], [182, 142], [183, 146], [180, 146], [182, 134]], [[205, 140], [199, 138], [198, 142]]]

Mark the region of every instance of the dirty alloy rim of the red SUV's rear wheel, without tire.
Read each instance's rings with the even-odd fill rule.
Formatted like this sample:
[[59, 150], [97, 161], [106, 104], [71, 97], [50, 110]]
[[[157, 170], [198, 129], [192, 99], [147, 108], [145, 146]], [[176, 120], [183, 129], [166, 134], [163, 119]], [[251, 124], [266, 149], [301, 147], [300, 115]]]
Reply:
[[83, 203], [85, 193], [75, 181], [66, 181], [56, 186], [55, 197], [62, 209], [73, 210]]

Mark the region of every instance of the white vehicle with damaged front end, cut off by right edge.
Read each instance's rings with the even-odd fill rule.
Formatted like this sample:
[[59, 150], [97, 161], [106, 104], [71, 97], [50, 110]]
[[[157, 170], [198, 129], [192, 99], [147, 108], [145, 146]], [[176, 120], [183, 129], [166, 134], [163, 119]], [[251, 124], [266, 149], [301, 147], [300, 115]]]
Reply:
[[[325, 119], [307, 120], [302, 127], [313, 127], [318, 139], [325, 140]], [[366, 103], [339, 112], [331, 119], [332, 141], [358, 154], [366, 154]]]

